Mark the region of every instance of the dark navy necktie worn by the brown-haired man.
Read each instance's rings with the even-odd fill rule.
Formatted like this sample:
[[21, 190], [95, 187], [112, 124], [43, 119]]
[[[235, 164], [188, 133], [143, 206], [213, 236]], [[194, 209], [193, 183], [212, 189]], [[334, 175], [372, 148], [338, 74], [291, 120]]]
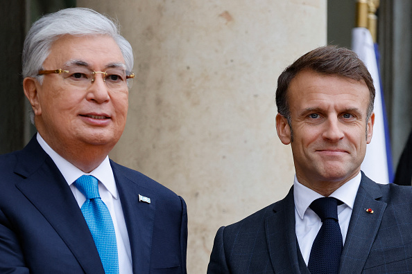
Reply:
[[307, 267], [311, 274], [338, 273], [343, 248], [341, 228], [338, 223], [338, 200], [332, 197], [316, 199], [309, 206], [322, 221], [312, 244]]

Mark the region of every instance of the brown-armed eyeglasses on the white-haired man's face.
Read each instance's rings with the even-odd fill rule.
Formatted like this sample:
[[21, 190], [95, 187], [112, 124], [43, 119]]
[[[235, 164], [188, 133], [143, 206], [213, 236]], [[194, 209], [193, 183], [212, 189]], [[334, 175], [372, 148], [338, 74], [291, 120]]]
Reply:
[[85, 66], [67, 66], [65, 69], [51, 71], [39, 71], [38, 75], [58, 73], [63, 76], [65, 84], [87, 88], [96, 80], [96, 74], [103, 75], [103, 81], [111, 90], [119, 90], [131, 87], [134, 73], [126, 73], [120, 67], [110, 68], [107, 71], [92, 71]]

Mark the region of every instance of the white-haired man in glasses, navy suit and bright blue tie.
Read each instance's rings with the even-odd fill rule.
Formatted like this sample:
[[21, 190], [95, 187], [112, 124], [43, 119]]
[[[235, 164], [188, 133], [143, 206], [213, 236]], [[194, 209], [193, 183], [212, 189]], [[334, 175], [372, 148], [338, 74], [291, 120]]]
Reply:
[[0, 156], [0, 273], [186, 273], [184, 200], [108, 158], [132, 65], [130, 44], [94, 10], [33, 24], [23, 85], [38, 133]]

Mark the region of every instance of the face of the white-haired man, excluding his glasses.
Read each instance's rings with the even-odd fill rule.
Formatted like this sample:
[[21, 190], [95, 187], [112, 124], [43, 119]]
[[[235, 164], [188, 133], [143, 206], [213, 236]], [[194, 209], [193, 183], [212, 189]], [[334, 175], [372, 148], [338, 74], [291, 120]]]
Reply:
[[[107, 71], [125, 63], [119, 46], [105, 35], [61, 37], [52, 44], [43, 68], [64, 69], [68, 62], [91, 71]], [[128, 88], [113, 91], [102, 75], [97, 73], [94, 83], [85, 87], [67, 84], [61, 74], [44, 75], [42, 84], [25, 79], [37, 130], [56, 151], [87, 145], [110, 150], [119, 140], [126, 125]]]

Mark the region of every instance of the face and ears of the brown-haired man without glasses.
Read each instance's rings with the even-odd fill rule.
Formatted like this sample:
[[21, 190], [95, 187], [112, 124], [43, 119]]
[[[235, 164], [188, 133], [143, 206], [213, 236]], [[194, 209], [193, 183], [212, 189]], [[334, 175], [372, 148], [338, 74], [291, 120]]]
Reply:
[[375, 115], [367, 121], [368, 86], [347, 77], [302, 71], [291, 81], [288, 95], [291, 128], [280, 114], [276, 127], [282, 143], [291, 143], [298, 181], [332, 193], [359, 173], [372, 138]]

